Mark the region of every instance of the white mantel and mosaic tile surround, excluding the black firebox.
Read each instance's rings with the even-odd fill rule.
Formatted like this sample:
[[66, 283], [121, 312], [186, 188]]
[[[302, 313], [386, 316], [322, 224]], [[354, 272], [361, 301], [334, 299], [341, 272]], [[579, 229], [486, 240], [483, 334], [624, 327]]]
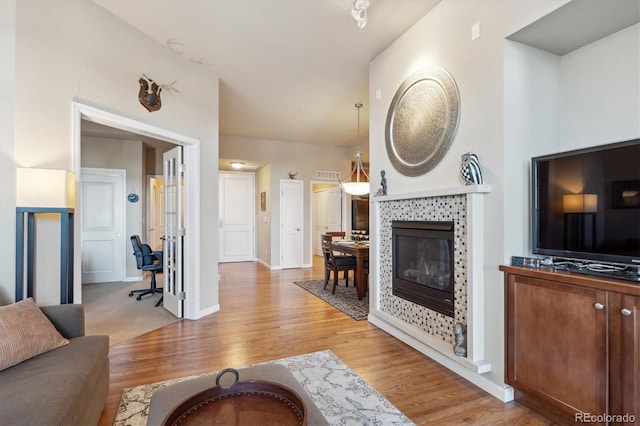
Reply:
[[[369, 321], [400, 340], [476, 374], [491, 371], [484, 354], [484, 196], [488, 185], [443, 188], [372, 198], [377, 263]], [[393, 220], [448, 220], [454, 223], [454, 317], [393, 296], [391, 244]], [[467, 327], [467, 356], [453, 351], [454, 325]], [[430, 355], [431, 356], [431, 355]]]

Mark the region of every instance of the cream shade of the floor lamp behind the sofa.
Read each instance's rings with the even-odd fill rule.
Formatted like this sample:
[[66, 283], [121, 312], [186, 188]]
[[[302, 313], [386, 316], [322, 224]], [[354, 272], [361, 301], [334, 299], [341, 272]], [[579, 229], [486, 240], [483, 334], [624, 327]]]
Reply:
[[16, 207], [74, 208], [73, 173], [55, 169], [16, 169]]

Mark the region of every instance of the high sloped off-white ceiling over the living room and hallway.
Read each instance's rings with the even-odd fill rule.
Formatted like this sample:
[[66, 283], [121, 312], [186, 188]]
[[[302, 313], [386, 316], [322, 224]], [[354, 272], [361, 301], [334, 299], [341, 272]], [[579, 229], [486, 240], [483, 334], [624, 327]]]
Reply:
[[353, 0], [94, 2], [220, 78], [220, 134], [366, 146], [369, 62], [439, 0], [370, 0], [361, 30]]

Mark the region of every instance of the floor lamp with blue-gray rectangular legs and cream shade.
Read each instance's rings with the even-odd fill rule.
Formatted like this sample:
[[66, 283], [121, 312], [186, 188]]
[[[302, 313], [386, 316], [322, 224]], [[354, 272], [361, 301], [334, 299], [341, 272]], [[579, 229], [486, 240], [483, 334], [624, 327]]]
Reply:
[[60, 215], [60, 303], [73, 303], [75, 192], [75, 177], [66, 170], [16, 169], [16, 302], [34, 296], [35, 215], [57, 214]]

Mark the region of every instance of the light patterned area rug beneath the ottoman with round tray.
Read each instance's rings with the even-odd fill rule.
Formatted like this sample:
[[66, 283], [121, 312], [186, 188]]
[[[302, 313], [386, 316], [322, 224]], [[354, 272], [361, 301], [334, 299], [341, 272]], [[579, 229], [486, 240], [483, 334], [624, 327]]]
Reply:
[[[262, 364], [287, 367], [331, 425], [413, 425], [330, 350]], [[124, 389], [114, 426], [146, 425], [153, 392], [193, 377], [197, 376]]]

